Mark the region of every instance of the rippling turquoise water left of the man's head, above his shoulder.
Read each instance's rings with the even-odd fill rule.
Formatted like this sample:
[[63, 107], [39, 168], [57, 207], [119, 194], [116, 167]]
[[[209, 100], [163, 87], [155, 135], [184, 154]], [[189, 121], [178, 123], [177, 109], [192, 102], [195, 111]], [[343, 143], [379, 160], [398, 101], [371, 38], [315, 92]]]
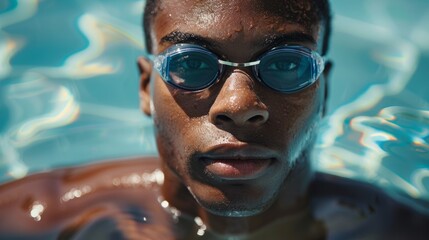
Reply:
[[[136, 19], [142, 6], [141, 1], [1, 1], [0, 181], [154, 154], [149, 120], [136, 107], [137, 96], [128, 97], [138, 89], [134, 61], [143, 41]], [[109, 13], [118, 7], [121, 15]], [[136, 53], [129, 61], [123, 60], [124, 48]], [[124, 72], [131, 76], [121, 79]], [[124, 86], [129, 89], [121, 91]]]

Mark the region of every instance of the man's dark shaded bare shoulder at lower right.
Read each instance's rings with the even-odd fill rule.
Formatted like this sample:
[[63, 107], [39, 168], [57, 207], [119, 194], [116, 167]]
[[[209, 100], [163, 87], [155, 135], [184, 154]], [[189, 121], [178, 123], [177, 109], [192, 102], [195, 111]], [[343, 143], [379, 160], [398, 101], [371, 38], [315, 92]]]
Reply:
[[[427, 239], [429, 215], [374, 185], [318, 174], [311, 186], [315, 217], [328, 239]], [[429, 204], [429, 203], [427, 203]]]

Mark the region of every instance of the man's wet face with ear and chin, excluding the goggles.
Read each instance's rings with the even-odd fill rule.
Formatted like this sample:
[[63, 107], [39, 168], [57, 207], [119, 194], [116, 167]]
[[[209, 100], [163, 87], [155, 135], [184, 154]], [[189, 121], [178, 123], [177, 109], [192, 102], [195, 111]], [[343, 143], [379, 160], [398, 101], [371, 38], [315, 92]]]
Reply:
[[[163, 1], [152, 25], [153, 53], [176, 43], [204, 46], [231, 62], [250, 62], [284, 44], [320, 53], [323, 27], [311, 5], [269, 2]], [[181, 183], [223, 216], [260, 213], [279, 193], [300, 188], [288, 183], [312, 147], [327, 71], [310, 87], [284, 94], [258, 82], [251, 68], [228, 67], [213, 86], [189, 92], [167, 85], [148, 62], [140, 65], [142, 108], [155, 122], [166, 184]]]

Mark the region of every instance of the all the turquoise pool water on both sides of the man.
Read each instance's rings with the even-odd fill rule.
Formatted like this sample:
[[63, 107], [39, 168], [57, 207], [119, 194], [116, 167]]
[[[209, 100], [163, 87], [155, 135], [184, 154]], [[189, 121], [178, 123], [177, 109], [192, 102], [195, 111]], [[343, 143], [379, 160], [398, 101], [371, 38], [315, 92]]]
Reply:
[[[423, 209], [429, 1], [331, 2], [334, 71], [314, 164]], [[0, 1], [0, 182], [156, 154], [138, 106], [143, 4]]]

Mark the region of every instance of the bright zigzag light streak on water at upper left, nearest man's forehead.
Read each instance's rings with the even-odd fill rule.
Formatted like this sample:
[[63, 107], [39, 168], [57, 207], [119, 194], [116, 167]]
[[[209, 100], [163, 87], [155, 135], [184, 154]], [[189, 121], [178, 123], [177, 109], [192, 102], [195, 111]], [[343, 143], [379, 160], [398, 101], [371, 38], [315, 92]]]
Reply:
[[42, 72], [51, 78], [65, 77], [70, 80], [114, 74], [120, 69], [121, 61], [118, 58], [113, 62], [103, 55], [108, 50], [109, 44], [123, 39], [125, 43], [143, 48], [141, 39], [135, 34], [138, 28], [113, 17], [85, 13], [78, 19], [78, 29], [88, 41], [85, 49], [69, 56], [60, 67], [42, 67], [32, 70]]

